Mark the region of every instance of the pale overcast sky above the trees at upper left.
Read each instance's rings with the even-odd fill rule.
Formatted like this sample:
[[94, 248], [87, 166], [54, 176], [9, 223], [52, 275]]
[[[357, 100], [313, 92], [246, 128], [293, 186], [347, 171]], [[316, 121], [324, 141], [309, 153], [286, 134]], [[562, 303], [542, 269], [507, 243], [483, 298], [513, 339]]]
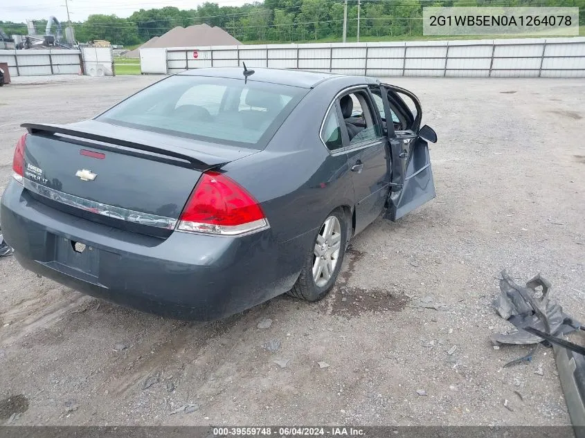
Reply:
[[[204, 0], [67, 0], [71, 21], [84, 21], [92, 14], [115, 14], [129, 17], [140, 9], [175, 6], [179, 9], [197, 8]], [[241, 6], [244, 0], [215, 0], [220, 6]], [[0, 21], [26, 22], [27, 19], [48, 19], [54, 15], [67, 21], [65, 0], [0, 0]]]

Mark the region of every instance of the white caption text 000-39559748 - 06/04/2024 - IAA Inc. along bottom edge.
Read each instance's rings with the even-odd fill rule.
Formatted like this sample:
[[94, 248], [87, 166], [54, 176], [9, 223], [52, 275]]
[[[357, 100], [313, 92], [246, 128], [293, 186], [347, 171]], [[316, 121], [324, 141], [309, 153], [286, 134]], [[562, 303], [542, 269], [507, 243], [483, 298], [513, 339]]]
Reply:
[[214, 428], [214, 437], [250, 437], [250, 436], [275, 436], [275, 437], [366, 437], [361, 428], [352, 427], [224, 427]]

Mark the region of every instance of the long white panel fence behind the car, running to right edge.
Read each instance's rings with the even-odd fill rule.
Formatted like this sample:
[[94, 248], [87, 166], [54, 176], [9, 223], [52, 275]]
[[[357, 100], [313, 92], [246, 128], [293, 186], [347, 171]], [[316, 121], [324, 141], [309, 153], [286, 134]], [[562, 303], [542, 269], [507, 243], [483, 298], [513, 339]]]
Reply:
[[149, 62], [143, 61], [143, 73], [172, 74], [200, 67], [241, 66], [245, 62], [249, 67], [378, 77], [585, 77], [584, 37], [147, 50]]

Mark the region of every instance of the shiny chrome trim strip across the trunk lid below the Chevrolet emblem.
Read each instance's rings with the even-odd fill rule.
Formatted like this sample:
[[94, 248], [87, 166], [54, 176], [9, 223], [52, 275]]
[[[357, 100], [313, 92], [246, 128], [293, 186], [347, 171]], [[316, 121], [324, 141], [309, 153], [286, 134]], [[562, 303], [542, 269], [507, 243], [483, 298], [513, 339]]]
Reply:
[[60, 202], [66, 206], [72, 206], [93, 212], [97, 215], [114, 217], [115, 219], [120, 219], [122, 221], [139, 223], [141, 225], [153, 226], [156, 228], [165, 228], [166, 230], [174, 230], [174, 227], [177, 225], [177, 219], [172, 217], [151, 215], [150, 213], [137, 212], [134, 210], [128, 210], [127, 208], [109, 206], [108, 204], [91, 201], [89, 199], [76, 197], [73, 194], [48, 188], [39, 183], [35, 183], [34, 181], [30, 181], [30, 179], [23, 179], [23, 185], [26, 189], [40, 194], [43, 197]]

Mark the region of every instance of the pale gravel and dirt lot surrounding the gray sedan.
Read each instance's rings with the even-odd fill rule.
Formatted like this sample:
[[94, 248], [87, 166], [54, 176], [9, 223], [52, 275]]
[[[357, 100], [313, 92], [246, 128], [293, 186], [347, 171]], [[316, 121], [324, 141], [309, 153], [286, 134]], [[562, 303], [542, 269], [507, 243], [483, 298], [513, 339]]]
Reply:
[[[21, 122], [81, 120], [154, 80], [0, 89], [0, 192]], [[504, 268], [521, 281], [541, 272], [585, 320], [585, 81], [392, 82], [420, 95], [438, 132], [437, 199], [354, 239], [322, 302], [281, 297], [197, 325], [87, 298], [0, 259], [0, 421], [568, 424], [552, 350], [503, 369], [528, 349], [494, 350], [489, 334], [508, 327], [491, 307]], [[272, 340], [276, 352], [264, 348]], [[186, 404], [192, 412], [171, 414]]]

